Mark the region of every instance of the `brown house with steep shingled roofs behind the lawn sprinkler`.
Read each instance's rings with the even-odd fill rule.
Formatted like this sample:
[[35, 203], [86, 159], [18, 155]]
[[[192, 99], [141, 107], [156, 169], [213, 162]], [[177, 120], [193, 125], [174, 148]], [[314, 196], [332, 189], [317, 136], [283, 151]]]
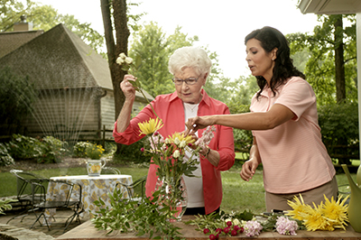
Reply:
[[[23, 121], [29, 135], [93, 140], [105, 127], [112, 139], [116, 114], [107, 60], [61, 23], [48, 32], [1, 32], [0, 42], [0, 69], [28, 76], [39, 90], [32, 115]], [[146, 104], [137, 93], [134, 111]]]

